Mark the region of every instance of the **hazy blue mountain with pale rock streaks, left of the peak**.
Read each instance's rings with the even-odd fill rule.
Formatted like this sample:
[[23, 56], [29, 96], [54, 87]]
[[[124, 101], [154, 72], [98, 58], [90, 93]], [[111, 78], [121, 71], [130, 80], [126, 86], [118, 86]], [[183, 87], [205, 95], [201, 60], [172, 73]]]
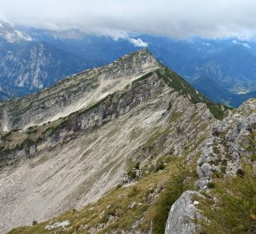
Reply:
[[5, 43], [0, 49], [1, 81], [11, 87], [34, 90], [87, 68], [78, 55], [47, 42]]

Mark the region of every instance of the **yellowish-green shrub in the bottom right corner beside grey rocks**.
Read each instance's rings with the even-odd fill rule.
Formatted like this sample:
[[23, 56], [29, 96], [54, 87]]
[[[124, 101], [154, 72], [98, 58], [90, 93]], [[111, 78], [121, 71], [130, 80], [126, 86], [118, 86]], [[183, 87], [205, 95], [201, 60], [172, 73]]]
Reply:
[[203, 233], [256, 233], [255, 131], [246, 138], [250, 144], [241, 153], [244, 175], [233, 178], [219, 176], [212, 182], [211, 196], [207, 194], [207, 199], [202, 200], [200, 209], [211, 220], [210, 223], [202, 222]]

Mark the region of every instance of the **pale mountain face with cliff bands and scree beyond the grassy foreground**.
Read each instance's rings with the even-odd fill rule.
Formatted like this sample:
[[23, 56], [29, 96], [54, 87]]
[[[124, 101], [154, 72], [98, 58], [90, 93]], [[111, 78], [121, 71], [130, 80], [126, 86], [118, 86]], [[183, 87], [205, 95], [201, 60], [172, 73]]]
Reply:
[[[141, 50], [3, 103], [9, 129], [42, 122], [1, 133], [0, 231], [95, 201], [119, 183], [128, 159], [197, 153], [216, 120], [206, 103], [173, 87], [186, 86], [181, 78], [163, 77], [159, 67]], [[56, 101], [61, 94], [67, 98]]]

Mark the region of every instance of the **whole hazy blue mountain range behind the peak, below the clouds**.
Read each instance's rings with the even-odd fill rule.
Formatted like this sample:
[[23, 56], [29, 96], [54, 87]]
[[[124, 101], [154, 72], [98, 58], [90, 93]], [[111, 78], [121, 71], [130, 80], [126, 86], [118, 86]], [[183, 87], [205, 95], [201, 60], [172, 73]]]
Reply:
[[[12, 33], [17, 39], [10, 42], [3, 36], [6, 29], [0, 28], [0, 81], [9, 90], [4, 95], [0, 93], [2, 100], [49, 87], [83, 69], [106, 65], [145, 44], [160, 62], [181, 74], [212, 101], [238, 107], [242, 101], [255, 97], [254, 42], [202, 38], [181, 41], [146, 35], [114, 40], [85, 35], [78, 29], [53, 32], [14, 29], [8, 24], [8, 31], [11, 29], [19, 33]], [[133, 43], [131, 38], [145, 43]]]

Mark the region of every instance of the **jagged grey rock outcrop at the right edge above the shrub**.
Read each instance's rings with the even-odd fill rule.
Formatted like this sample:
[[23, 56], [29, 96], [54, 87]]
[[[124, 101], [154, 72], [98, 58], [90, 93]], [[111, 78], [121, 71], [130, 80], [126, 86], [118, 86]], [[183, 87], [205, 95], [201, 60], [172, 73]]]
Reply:
[[196, 186], [206, 188], [213, 173], [235, 175], [245, 160], [254, 164], [252, 155], [256, 153], [256, 148], [253, 150], [251, 145], [255, 133], [256, 99], [251, 99], [213, 127], [212, 135], [198, 160], [200, 180]]

